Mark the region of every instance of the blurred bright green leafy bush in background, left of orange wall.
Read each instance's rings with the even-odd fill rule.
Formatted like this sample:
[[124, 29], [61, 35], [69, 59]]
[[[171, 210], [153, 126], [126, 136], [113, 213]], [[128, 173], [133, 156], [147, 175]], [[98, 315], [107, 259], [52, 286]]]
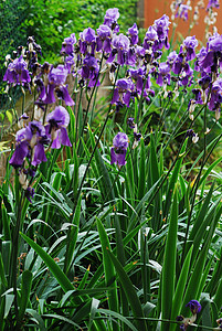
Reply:
[[78, 34], [91, 26], [98, 28], [104, 21], [107, 9], [118, 8], [121, 32], [128, 30], [136, 20], [136, 0], [28, 0], [29, 11], [24, 21], [28, 35], [34, 35], [41, 44], [45, 61], [56, 62], [64, 38], [71, 33]]

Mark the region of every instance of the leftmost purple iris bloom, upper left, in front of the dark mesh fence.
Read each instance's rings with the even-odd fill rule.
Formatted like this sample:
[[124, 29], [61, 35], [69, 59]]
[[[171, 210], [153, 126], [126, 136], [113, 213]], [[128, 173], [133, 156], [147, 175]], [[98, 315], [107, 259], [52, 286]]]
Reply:
[[24, 85], [31, 82], [31, 77], [27, 68], [27, 62], [23, 60], [22, 55], [9, 64], [3, 76], [3, 81], [9, 84], [15, 83], [18, 85]]

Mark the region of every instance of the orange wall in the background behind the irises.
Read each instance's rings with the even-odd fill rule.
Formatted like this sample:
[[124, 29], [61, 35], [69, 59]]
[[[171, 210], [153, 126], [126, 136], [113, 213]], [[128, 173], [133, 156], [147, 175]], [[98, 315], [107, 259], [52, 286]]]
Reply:
[[[163, 13], [169, 15], [171, 21], [171, 10], [170, 10], [170, 3], [171, 0], [144, 0], [144, 11], [145, 11], [145, 28], [147, 29], [149, 25], [154, 23], [155, 20], [162, 17]], [[187, 1], [184, 1], [186, 4]], [[191, 0], [191, 6], [194, 7], [197, 0]], [[222, 1], [221, 1], [222, 2]], [[208, 4], [208, 0], [204, 0], [205, 8]], [[216, 17], [216, 23], [215, 26], [218, 28], [218, 32], [222, 34], [222, 3], [219, 9], [214, 9], [214, 11], [218, 12]], [[194, 28], [189, 31], [190, 28], [190, 20], [192, 19], [192, 11], [189, 11], [188, 14], [188, 21], [183, 21], [182, 19], [176, 19], [176, 22], [178, 22], [178, 26], [176, 29], [177, 35], [178, 33], [181, 33], [183, 38], [187, 35], [195, 35], [195, 38], [200, 41], [204, 42], [204, 31], [205, 31], [205, 23], [204, 23], [204, 17], [207, 12], [205, 9], [200, 9], [200, 18], [199, 18], [199, 24], [194, 25]], [[172, 22], [172, 21], [171, 21]], [[210, 26], [210, 31], [212, 32], [212, 25]], [[172, 33], [172, 24], [170, 24], [170, 35]]]

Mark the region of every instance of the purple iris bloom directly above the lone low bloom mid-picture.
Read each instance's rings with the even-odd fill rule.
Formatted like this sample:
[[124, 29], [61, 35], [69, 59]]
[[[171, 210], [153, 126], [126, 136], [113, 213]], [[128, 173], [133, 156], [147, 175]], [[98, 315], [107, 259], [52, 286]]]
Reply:
[[118, 79], [116, 82], [116, 88], [114, 89], [112, 104], [117, 104], [118, 102], [120, 102], [121, 104], [129, 107], [133, 89], [134, 89], [134, 83], [131, 82], [130, 78]]

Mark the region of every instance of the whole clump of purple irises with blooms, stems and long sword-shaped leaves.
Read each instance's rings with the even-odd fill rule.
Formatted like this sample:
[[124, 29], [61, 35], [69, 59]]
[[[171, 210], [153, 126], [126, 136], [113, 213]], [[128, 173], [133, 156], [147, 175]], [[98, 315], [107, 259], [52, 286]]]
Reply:
[[222, 35], [175, 51], [166, 14], [142, 42], [118, 19], [65, 38], [59, 65], [34, 38], [7, 58], [33, 104], [0, 191], [0, 330], [222, 328]]

